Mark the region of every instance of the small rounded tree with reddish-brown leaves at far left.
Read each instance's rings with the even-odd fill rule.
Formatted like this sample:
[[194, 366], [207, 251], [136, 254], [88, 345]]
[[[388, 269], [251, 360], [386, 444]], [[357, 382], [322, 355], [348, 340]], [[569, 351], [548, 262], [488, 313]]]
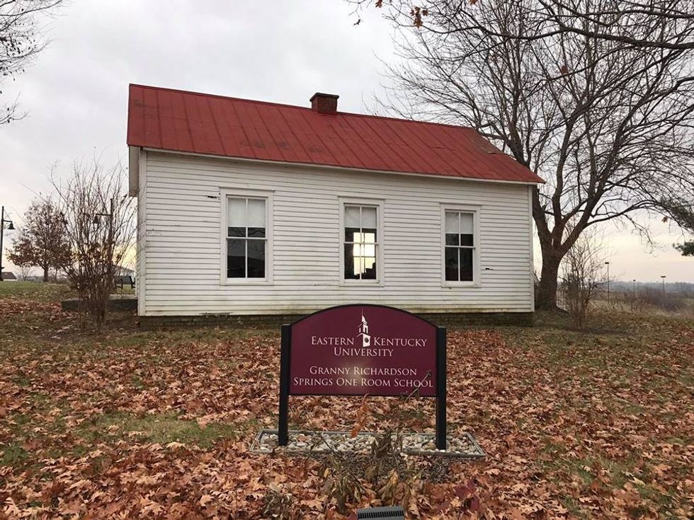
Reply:
[[7, 258], [18, 267], [40, 267], [43, 281], [69, 258], [62, 217], [50, 199], [34, 200], [24, 214], [25, 224], [14, 239]]

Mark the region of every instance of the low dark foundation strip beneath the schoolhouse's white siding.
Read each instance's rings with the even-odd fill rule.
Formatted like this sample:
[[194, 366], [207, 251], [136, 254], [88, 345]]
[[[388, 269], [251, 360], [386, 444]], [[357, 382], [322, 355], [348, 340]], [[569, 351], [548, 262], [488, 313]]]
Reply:
[[[442, 327], [494, 327], [513, 325], [533, 326], [533, 313], [416, 313], [417, 316]], [[248, 325], [280, 326], [302, 318], [301, 314], [278, 314], [258, 316], [230, 316], [227, 314], [204, 316], [140, 316], [140, 328], [163, 327], [245, 327]]]

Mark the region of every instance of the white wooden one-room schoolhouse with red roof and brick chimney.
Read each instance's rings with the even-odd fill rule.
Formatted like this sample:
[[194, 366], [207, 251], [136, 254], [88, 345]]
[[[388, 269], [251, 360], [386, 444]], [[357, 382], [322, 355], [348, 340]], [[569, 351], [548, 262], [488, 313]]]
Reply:
[[130, 86], [142, 323], [370, 303], [527, 323], [533, 187], [473, 129]]

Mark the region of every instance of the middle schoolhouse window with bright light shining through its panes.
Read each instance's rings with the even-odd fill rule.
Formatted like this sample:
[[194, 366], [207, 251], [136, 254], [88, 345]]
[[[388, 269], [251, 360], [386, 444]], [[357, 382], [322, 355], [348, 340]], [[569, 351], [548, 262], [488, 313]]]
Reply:
[[379, 206], [344, 204], [343, 279], [376, 282]]

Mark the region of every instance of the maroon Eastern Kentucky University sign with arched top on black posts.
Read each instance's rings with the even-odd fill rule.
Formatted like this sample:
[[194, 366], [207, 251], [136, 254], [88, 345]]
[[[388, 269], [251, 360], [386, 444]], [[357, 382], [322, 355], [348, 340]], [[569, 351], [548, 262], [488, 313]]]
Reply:
[[436, 398], [445, 449], [445, 329], [388, 306], [326, 308], [283, 325], [278, 444], [288, 442], [289, 395]]

